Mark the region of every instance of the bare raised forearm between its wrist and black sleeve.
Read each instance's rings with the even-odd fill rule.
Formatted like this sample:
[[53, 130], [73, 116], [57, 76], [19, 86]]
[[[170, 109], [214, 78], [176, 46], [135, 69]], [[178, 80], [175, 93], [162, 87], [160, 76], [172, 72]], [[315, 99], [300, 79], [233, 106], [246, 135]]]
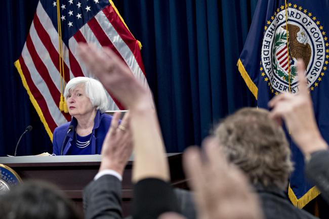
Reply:
[[131, 110], [131, 128], [135, 147], [133, 182], [145, 178], [170, 180], [169, 167], [156, 113], [142, 102]]

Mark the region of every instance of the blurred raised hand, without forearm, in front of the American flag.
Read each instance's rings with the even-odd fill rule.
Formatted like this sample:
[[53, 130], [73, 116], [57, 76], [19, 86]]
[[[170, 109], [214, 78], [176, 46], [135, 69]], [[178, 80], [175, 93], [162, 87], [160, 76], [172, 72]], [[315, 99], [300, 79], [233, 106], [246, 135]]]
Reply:
[[126, 63], [109, 48], [97, 49], [94, 45], [80, 43], [79, 56], [105, 89], [125, 107], [135, 107], [141, 102], [140, 99], [144, 103], [152, 103], [148, 90], [135, 79]]

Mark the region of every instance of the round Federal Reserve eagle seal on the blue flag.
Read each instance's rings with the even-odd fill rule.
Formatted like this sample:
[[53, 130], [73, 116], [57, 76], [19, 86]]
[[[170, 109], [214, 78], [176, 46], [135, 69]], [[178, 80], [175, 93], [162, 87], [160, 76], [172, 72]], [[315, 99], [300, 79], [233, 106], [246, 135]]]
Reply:
[[[287, 19], [286, 19], [287, 14]], [[279, 7], [264, 27], [261, 75], [275, 95], [298, 93], [297, 59], [305, 62], [308, 87], [313, 91], [324, 76], [328, 42], [316, 16], [301, 6]]]

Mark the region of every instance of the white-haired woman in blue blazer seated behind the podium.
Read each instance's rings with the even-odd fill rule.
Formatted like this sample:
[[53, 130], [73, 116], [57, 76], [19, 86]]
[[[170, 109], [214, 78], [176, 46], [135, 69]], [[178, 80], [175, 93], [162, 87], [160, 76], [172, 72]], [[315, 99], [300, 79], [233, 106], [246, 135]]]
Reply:
[[53, 154], [100, 154], [112, 116], [104, 114], [108, 100], [103, 85], [93, 78], [75, 77], [64, 91], [72, 120], [55, 128]]

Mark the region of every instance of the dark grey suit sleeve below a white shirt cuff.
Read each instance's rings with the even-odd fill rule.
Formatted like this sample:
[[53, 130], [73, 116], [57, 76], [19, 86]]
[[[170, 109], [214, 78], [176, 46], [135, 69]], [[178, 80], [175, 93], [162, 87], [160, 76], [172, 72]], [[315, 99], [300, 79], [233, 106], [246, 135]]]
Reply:
[[84, 189], [85, 219], [120, 219], [121, 182], [114, 176], [104, 175]]

